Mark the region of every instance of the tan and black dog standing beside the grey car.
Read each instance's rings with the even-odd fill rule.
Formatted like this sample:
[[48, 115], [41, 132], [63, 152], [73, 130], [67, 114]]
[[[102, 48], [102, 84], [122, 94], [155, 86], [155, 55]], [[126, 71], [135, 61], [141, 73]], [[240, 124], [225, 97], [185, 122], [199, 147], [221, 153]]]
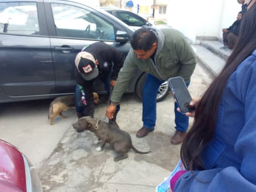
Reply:
[[[98, 93], [93, 92], [93, 98], [95, 104], [100, 102]], [[52, 103], [50, 103], [48, 111], [48, 119], [50, 119], [50, 125], [53, 125], [53, 119], [58, 115], [66, 118], [66, 116], [62, 114], [62, 111], [66, 111], [68, 109], [75, 109], [75, 95], [60, 96], [55, 98]]]

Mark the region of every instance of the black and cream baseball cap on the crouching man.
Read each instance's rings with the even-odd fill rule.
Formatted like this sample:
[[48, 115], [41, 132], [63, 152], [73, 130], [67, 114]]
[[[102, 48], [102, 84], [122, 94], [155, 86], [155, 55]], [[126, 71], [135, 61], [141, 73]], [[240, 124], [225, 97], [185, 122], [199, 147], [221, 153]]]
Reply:
[[78, 53], [75, 58], [75, 65], [80, 75], [87, 81], [93, 80], [99, 75], [98, 67], [91, 53]]

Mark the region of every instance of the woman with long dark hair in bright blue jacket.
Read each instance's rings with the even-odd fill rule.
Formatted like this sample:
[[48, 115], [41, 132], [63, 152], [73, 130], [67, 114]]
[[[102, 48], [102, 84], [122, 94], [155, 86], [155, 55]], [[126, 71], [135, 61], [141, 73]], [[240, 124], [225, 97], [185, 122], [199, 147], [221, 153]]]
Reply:
[[255, 3], [243, 16], [226, 65], [194, 105], [180, 151], [186, 171], [171, 178], [171, 189], [256, 191]]

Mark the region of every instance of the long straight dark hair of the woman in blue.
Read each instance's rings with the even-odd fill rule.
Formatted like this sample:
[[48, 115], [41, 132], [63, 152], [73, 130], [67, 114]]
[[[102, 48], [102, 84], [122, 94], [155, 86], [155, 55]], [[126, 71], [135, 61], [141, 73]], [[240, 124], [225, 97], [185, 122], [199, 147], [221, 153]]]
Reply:
[[245, 12], [240, 25], [238, 41], [221, 73], [203, 94], [194, 117], [194, 123], [181, 145], [181, 160], [188, 170], [204, 170], [201, 153], [213, 138], [219, 102], [227, 80], [237, 66], [256, 49], [256, 4]]

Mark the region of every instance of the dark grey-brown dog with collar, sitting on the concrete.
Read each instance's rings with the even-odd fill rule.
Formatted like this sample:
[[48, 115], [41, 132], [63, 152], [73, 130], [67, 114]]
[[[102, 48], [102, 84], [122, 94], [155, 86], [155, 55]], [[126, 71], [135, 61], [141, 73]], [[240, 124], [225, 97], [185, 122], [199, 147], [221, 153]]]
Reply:
[[119, 154], [114, 158], [114, 161], [117, 162], [124, 158], [127, 158], [127, 152], [132, 149], [136, 153], [149, 153], [149, 152], [140, 152], [135, 149], [134, 145], [132, 145], [132, 139], [130, 138], [130, 134], [125, 132], [124, 130], [116, 127], [115, 124], [109, 124], [107, 122], [101, 121], [99, 119], [93, 119], [89, 116], [81, 117], [78, 119], [78, 122], [73, 124], [73, 127], [76, 131], [81, 132], [83, 130], [90, 130], [93, 132], [99, 139], [101, 139], [101, 144], [97, 151], [103, 149], [105, 144], [110, 144], [114, 147], [114, 150]]

